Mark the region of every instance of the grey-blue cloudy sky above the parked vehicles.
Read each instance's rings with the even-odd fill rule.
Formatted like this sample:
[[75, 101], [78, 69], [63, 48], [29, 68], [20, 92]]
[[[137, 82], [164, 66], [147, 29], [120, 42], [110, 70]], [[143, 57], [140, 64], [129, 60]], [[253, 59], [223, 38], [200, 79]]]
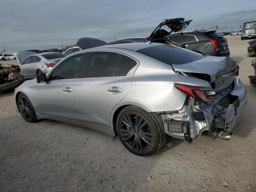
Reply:
[[193, 22], [186, 30], [238, 30], [256, 20], [256, 0], [1, 0], [0, 52], [61, 48], [82, 37], [106, 42], [148, 37], [164, 19]]

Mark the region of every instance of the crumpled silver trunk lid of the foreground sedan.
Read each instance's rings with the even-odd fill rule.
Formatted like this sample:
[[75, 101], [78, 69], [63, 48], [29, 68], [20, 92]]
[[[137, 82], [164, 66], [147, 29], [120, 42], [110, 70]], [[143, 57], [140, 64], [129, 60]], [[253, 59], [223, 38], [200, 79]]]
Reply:
[[236, 60], [230, 57], [206, 56], [194, 62], [172, 66], [183, 75], [208, 81], [216, 92], [229, 87], [238, 75]]

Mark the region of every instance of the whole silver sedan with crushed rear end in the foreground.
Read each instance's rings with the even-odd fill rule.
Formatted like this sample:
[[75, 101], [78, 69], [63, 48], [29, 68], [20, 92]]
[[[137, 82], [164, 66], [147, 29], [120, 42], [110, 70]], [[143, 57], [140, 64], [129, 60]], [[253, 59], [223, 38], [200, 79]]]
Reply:
[[155, 153], [168, 136], [226, 137], [247, 101], [232, 58], [150, 42], [70, 54], [20, 85], [14, 100], [28, 122], [52, 119], [119, 136], [137, 155]]

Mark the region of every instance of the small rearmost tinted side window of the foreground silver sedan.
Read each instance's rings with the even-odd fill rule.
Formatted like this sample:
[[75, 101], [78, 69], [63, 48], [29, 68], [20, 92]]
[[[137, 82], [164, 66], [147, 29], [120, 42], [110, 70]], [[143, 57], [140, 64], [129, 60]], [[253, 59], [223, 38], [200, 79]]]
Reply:
[[137, 62], [133, 59], [120, 55], [118, 57], [118, 61], [116, 63], [116, 69], [114, 76], [126, 76], [126, 74], [134, 67], [136, 66]]

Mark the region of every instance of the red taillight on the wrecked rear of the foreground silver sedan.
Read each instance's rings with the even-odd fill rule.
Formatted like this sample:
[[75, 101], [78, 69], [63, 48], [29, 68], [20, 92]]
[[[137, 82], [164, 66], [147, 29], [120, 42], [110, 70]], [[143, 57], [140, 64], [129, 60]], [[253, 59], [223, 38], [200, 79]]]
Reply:
[[210, 102], [216, 98], [216, 92], [212, 88], [184, 85], [178, 83], [174, 83], [174, 87], [188, 94], [189, 96], [200, 99], [204, 102]]

